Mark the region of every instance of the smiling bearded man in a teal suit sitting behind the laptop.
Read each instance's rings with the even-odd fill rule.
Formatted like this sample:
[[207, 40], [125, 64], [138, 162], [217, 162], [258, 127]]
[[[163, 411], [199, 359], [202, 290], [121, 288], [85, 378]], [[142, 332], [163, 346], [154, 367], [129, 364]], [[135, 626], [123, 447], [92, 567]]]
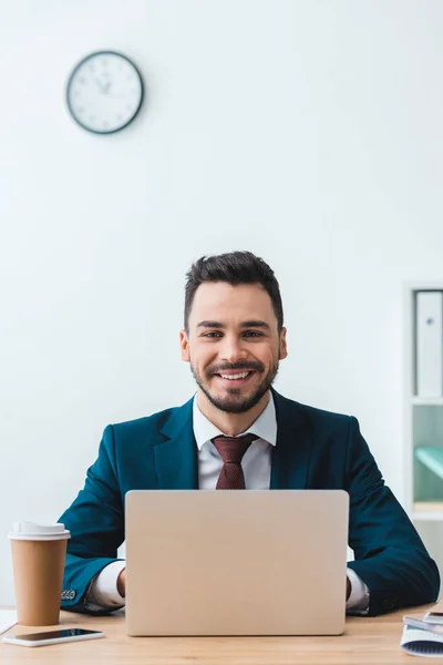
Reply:
[[[250, 252], [197, 260], [187, 274], [179, 341], [196, 395], [183, 407], [109, 426], [84, 489], [60, 519], [72, 534], [63, 608], [124, 605], [125, 562], [116, 551], [132, 489], [346, 490], [356, 555], [343, 580], [348, 612], [435, 601], [436, 565], [384, 484], [357, 419], [271, 387], [287, 357], [271, 268]], [[312, 593], [321, 603], [321, 589]]]

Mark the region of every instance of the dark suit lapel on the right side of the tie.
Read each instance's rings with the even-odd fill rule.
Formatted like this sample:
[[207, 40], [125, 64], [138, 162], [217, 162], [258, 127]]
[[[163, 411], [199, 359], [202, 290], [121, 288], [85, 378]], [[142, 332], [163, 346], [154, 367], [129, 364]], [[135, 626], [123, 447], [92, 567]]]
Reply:
[[302, 490], [307, 485], [312, 424], [301, 407], [272, 389], [277, 443], [272, 450], [271, 490]]

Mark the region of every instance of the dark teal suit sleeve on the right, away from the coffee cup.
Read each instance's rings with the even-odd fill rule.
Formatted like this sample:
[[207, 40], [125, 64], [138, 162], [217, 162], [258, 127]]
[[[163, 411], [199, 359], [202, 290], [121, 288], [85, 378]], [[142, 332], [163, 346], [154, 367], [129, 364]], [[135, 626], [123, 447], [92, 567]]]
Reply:
[[356, 418], [350, 418], [346, 473], [349, 546], [356, 556], [348, 565], [369, 587], [369, 615], [434, 602], [439, 570], [384, 484]]

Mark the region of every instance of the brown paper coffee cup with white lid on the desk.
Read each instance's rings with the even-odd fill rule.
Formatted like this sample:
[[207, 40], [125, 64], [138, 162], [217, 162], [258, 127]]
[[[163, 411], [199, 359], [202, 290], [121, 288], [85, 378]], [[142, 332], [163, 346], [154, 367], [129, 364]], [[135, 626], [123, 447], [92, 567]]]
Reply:
[[66, 543], [64, 524], [14, 522], [11, 541], [18, 623], [50, 626], [59, 623]]

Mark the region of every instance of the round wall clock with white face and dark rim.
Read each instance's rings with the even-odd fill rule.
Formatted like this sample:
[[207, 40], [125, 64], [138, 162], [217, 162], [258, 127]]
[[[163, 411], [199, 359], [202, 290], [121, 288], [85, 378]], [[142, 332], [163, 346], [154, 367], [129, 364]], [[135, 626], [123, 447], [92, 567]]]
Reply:
[[84, 58], [66, 89], [71, 115], [85, 130], [112, 134], [130, 124], [143, 101], [143, 80], [128, 58], [99, 51]]

